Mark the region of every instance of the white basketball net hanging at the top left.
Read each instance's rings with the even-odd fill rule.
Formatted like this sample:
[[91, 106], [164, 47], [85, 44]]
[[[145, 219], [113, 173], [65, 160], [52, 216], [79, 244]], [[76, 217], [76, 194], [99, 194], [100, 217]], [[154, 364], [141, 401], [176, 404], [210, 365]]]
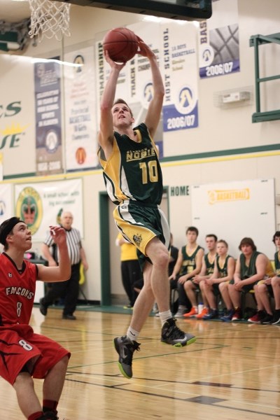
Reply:
[[64, 35], [70, 36], [69, 10], [70, 4], [51, 0], [29, 0], [31, 22], [29, 36], [38, 36], [41, 42], [43, 36], [61, 41]]

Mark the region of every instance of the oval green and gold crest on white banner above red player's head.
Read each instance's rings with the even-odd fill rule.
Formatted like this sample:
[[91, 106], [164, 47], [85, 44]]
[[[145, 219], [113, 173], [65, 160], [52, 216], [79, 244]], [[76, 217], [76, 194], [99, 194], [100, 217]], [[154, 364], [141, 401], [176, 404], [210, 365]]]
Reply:
[[18, 196], [15, 214], [27, 224], [31, 235], [37, 232], [43, 217], [43, 204], [40, 195], [32, 187], [26, 187]]

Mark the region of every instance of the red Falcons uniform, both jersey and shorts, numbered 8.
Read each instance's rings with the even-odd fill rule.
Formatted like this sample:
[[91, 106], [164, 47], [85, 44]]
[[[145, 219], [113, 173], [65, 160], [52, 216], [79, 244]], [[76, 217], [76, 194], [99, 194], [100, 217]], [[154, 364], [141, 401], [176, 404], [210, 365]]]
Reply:
[[34, 378], [45, 378], [68, 350], [48, 337], [35, 334], [29, 324], [38, 269], [24, 261], [18, 270], [6, 253], [0, 255], [0, 376], [14, 384], [22, 368]]

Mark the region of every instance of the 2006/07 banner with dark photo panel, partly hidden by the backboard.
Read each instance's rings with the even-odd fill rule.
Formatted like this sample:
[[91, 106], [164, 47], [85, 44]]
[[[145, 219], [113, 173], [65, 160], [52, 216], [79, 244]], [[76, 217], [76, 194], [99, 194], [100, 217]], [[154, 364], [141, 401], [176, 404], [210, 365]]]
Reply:
[[215, 0], [209, 20], [200, 22], [200, 78], [240, 70], [237, 0]]

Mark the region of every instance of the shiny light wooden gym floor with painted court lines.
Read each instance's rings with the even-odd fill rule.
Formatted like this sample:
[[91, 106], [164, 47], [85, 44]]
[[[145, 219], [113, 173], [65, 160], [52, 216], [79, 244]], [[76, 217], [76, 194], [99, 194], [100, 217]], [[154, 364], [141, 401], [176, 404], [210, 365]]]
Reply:
[[[197, 342], [177, 349], [160, 343], [160, 319], [150, 316], [134, 353], [132, 379], [123, 377], [113, 338], [129, 314], [76, 311], [77, 321], [37, 307], [35, 332], [72, 353], [59, 420], [268, 420], [280, 418], [280, 327], [179, 320]], [[41, 398], [42, 381], [35, 381]], [[1, 419], [24, 419], [13, 387], [0, 378]]]

